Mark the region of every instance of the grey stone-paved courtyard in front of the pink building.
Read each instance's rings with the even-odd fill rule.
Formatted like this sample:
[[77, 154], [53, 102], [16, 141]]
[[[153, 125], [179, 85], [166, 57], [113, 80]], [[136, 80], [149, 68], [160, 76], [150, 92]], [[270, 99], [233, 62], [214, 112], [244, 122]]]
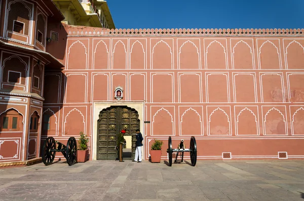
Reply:
[[0, 169], [0, 200], [304, 200], [304, 160], [126, 160]]

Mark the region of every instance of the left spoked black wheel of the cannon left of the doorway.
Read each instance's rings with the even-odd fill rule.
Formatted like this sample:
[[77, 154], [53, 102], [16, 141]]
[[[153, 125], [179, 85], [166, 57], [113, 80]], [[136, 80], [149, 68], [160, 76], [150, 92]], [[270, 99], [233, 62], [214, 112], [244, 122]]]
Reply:
[[43, 145], [42, 162], [48, 166], [53, 163], [56, 152], [56, 141], [53, 137], [48, 137]]

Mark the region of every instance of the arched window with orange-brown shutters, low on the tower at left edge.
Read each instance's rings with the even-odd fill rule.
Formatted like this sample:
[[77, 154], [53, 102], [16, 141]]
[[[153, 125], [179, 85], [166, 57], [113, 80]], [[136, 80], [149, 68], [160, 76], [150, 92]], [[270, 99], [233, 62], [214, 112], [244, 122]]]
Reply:
[[20, 120], [22, 120], [22, 116], [17, 111], [8, 110], [0, 117], [0, 131], [19, 131]]

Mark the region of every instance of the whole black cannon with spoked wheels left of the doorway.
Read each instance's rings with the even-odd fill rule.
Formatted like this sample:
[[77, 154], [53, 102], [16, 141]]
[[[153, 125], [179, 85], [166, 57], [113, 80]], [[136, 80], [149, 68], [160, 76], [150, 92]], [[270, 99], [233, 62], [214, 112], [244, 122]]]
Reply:
[[[56, 148], [56, 144], [57, 148]], [[48, 137], [43, 145], [42, 161], [48, 166], [53, 163], [56, 152], [61, 152], [66, 158], [69, 166], [74, 165], [77, 159], [77, 142], [74, 137], [70, 137], [66, 146], [59, 141], [55, 141], [53, 137]]]

